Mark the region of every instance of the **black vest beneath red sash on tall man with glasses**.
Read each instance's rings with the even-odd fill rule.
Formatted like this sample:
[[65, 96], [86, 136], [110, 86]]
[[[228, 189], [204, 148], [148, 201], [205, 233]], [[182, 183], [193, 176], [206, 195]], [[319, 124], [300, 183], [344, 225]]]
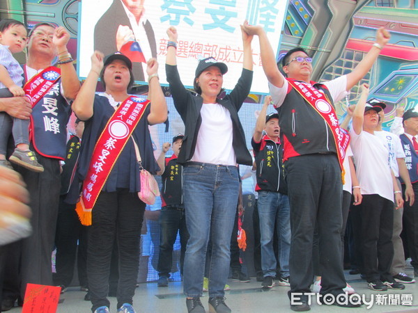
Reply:
[[[314, 88], [322, 90], [334, 106], [326, 86], [315, 83]], [[303, 154], [336, 153], [332, 131], [325, 120], [290, 84], [288, 94], [283, 104], [277, 108], [277, 113], [284, 161]]]

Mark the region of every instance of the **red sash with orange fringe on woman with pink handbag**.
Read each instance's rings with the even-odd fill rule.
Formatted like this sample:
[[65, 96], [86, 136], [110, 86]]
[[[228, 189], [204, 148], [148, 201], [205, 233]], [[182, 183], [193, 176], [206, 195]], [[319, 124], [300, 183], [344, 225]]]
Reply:
[[83, 225], [91, 225], [91, 211], [100, 191], [150, 103], [149, 100], [140, 101], [141, 99], [135, 96], [125, 99], [107, 121], [94, 147], [86, 179], [83, 182], [82, 197], [75, 209]]

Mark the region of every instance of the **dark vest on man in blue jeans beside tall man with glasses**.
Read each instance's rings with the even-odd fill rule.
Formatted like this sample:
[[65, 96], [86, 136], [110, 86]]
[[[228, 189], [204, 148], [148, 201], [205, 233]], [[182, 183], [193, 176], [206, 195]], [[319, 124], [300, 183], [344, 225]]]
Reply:
[[256, 159], [256, 191], [274, 191], [287, 195], [287, 185], [284, 181], [283, 147], [274, 143], [267, 135], [263, 136], [261, 143], [251, 139]]

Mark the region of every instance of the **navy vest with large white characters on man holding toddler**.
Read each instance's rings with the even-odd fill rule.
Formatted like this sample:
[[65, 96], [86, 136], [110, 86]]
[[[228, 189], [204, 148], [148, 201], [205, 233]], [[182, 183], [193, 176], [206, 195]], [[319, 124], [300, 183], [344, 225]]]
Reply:
[[65, 159], [67, 123], [71, 107], [61, 95], [61, 79], [32, 109], [31, 141], [44, 157]]

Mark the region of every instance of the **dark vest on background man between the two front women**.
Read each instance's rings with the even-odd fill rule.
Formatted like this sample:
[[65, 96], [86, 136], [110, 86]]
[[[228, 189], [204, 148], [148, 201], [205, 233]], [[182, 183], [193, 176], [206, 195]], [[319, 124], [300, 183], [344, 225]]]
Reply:
[[165, 159], [162, 173], [162, 207], [183, 204], [183, 166], [177, 163], [176, 154]]

